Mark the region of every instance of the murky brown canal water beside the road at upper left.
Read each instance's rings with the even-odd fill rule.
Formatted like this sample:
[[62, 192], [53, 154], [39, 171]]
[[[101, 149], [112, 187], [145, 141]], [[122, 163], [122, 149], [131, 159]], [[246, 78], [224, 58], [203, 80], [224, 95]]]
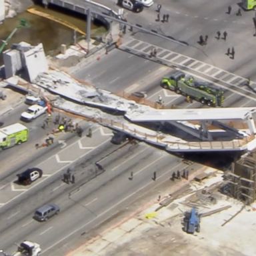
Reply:
[[[57, 17], [57, 19], [67, 21], [83, 31], [86, 29], [85, 16], [63, 10], [60, 11], [57, 8], [45, 9], [39, 5], [34, 5], [33, 8], [37, 11]], [[65, 43], [69, 45], [73, 43], [74, 33], [72, 29], [56, 23], [55, 21], [28, 13], [27, 11], [20, 13], [12, 19], [5, 19], [3, 25], [0, 25], [0, 40], [7, 39], [11, 31], [13, 31], [13, 29], [19, 24], [20, 19], [26, 19], [30, 24], [30, 27], [18, 29], [5, 49], [8, 49], [13, 43], [19, 43], [21, 41], [31, 43], [31, 45], [43, 43], [43, 47], [47, 55], [53, 55], [59, 51], [61, 44]], [[105, 32], [106, 28], [102, 24], [92, 24], [91, 37], [101, 35]], [[77, 36], [79, 37], [81, 35], [77, 33]], [[3, 64], [2, 55], [0, 56], [0, 64]]]

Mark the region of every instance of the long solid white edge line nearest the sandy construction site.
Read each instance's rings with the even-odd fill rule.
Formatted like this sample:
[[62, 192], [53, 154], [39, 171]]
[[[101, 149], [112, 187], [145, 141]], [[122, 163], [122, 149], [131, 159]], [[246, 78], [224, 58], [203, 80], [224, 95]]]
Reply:
[[[183, 165], [183, 163], [179, 163], [179, 165]], [[176, 165], [176, 167], [179, 167], [179, 165]], [[172, 170], [172, 169], [171, 169]], [[163, 177], [163, 175], [165, 175], [166, 173], [169, 173], [171, 171], [170, 169], [165, 171], [162, 175], [159, 175], [159, 178]], [[59, 241], [53, 243], [53, 245], [51, 245], [50, 247], [46, 248], [44, 251], [42, 251], [42, 253], [45, 253], [46, 251], [49, 251], [49, 249], [55, 247], [55, 245], [57, 245], [58, 243], [61, 243], [63, 240], [67, 239], [67, 237], [70, 237], [71, 235], [77, 233], [77, 231], [83, 229], [84, 227], [86, 227], [87, 225], [89, 225], [91, 222], [95, 221], [96, 219], [98, 219], [99, 217], [101, 217], [102, 215], [104, 215], [105, 213], [107, 213], [108, 211], [111, 211], [111, 209], [115, 208], [117, 205], [119, 205], [120, 203], [123, 203], [123, 201], [129, 199], [129, 197], [135, 195], [136, 193], [138, 193], [139, 191], [143, 190], [145, 187], [147, 187], [149, 184], [151, 183], [155, 183], [155, 181], [153, 181], [152, 179], [145, 184], [143, 187], [140, 187], [139, 189], [137, 189], [136, 191], [134, 191], [133, 193], [127, 195], [127, 197], [121, 199], [120, 201], [118, 201], [117, 203], [115, 203], [114, 205], [112, 205], [111, 207], [109, 207], [109, 209], [103, 211], [102, 213], [99, 213], [99, 215], [97, 215], [97, 217], [95, 217], [94, 219], [91, 219], [91, 221], [88, 221], [87, 223], [85, 223], [84, 225], [82, 225], [81, 227], [79, 227], [78, 229], [75, 229], [74, 231], [72, 231], [71, 233], [69, 233], [68, 235], [65, 235], [65, 237], [59, 239]]]

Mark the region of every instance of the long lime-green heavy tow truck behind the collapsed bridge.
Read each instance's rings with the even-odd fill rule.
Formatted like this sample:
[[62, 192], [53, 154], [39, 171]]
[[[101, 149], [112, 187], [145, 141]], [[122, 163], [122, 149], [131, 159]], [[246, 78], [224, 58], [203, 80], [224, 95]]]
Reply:
[[161, 86], [208, 106], [223, 105], [224, 91], [213, 87], [211, 83], [196, 81], [194, 77], [181, 71], [173, 71], [169, 77], [163, 77]]

